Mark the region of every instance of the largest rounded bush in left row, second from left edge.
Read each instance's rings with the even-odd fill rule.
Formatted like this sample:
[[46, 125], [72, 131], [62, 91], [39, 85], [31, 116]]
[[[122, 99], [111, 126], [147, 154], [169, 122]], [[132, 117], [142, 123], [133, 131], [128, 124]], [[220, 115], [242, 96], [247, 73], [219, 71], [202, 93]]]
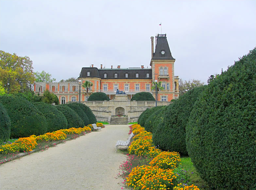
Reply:
[[46, 118], [31, 102], [22, 97], [1, 96], [1, 103], [11, 119], [10, 138], [46, 133]]

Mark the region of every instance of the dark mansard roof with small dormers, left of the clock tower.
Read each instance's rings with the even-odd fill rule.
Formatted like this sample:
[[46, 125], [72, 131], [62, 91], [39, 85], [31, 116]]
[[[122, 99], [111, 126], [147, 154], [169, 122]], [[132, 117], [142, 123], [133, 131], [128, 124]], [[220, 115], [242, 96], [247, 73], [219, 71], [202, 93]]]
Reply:
[[[90, 72], [90, 76], [87, 76], [87, 72]], [[107, 77], [104, 78], [104, 74], [107, 74]], [[117, 78], [115, 74], [117, 73]], [[125, 77], [125, 74], [128, 74], [128, 78]], [[136, 74], [139, 74], [139, 77], [136, 78]], [[147, 73], [149, 77], [147, 78]], [[151, 68], [102, 68], [98, 69], [97, 67], [83, 67], [79, 77], [97, 77], [101, 79], [152, 79], [152, 70]]]

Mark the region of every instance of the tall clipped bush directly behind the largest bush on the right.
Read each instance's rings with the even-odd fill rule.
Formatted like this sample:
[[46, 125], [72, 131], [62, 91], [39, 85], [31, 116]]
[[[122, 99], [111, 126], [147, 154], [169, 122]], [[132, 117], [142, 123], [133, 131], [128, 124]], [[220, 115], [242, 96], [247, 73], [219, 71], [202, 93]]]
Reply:
[[205, 86], [195, 87], [174, 101], [162, 116], [164, 119], [155, 126], [153, 143], [161, 150], [187, 155], [186, 125], [190, 112]]

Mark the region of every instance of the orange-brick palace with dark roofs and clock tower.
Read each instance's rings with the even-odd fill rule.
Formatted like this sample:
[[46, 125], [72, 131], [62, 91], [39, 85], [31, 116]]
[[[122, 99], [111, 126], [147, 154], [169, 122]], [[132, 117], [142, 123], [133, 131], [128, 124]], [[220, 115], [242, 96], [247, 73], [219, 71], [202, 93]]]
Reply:
[[[117, 89], [124, 91], [128, 98], [138, 92], [150, 92], [155, 97], [155, 91], [152, 90], [152, 82], [155, 80], [161, 82], [162, 90], [158, 92], [158, 101], [171, 101], [179, 98], [179, 77], [174, 75], [174, 62], [166, 34], [156, 36], [156, 46], [154, 52], [154, 37], [151, 37], [151, 61], [150, 68], [141, 66], [139, 68], [100, 68], [83, 67], [78, 80], [81, 84], [90, 81], [93, 86], [88, 94], [94, 92], [104, 92], [112, 100], [116, 95]], [[35, 83], [34, 92], [43, 94], [45, 89], [53, 92], [59, 98], [60, 104], [67, 102], [77, 102], [79, 99], [78, 82], [70, 83]], [[87, 101], [86, 89], [81, 86], [81, 102]]]

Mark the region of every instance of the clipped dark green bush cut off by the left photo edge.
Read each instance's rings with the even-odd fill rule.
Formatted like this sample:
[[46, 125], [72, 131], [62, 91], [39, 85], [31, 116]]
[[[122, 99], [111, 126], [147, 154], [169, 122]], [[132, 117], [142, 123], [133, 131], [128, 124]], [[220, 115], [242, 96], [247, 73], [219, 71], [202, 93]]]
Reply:
[[6, 142], [10, 139], [11, 135], [11, 120], [4, 108], [0, 103], [0, 143]]

